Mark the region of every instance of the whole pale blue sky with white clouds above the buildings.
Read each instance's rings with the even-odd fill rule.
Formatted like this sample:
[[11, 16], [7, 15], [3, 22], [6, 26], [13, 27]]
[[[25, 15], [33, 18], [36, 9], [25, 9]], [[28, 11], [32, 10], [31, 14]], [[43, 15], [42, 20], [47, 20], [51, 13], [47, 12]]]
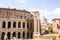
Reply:
[[30, 12], [37, 9], [40, 18], [45, 17], [48, 22], [60, 18], [60, 0], [0, 0], [0, 7], [25, 9]]

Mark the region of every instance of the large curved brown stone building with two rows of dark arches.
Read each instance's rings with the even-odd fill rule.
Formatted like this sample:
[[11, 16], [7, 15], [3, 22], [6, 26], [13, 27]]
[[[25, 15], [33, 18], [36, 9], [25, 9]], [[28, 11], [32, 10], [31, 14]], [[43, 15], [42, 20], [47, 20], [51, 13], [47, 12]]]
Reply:
[[26, 10], [0, 8], [0, 40], [33, 38], [33, 15]]

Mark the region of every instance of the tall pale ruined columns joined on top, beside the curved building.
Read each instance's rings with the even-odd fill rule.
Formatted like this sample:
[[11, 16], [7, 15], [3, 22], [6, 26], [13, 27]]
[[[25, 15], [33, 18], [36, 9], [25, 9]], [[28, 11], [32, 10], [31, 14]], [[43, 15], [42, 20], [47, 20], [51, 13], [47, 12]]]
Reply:
[[33, 40], [37, 40], [40, 37], [40, 26], [39, 26], [39, 11], [34, 11], [34, 34]]

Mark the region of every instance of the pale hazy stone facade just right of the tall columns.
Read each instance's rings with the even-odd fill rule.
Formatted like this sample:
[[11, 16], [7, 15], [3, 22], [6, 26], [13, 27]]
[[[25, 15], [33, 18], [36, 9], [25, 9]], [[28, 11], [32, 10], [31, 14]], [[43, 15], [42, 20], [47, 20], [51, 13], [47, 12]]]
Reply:
[[45, 17], [41, 19], [41, 34], [45, 34], [45, 31], [48, 30], [48, 20]]

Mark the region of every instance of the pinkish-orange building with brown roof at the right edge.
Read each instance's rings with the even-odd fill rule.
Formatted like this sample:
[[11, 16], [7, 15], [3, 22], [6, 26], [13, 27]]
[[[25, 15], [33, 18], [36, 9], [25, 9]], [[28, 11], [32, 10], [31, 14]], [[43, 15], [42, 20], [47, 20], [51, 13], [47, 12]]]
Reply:
[[52, 22], [53, 32], [60, 34], [60, 18], [54, 18]]

